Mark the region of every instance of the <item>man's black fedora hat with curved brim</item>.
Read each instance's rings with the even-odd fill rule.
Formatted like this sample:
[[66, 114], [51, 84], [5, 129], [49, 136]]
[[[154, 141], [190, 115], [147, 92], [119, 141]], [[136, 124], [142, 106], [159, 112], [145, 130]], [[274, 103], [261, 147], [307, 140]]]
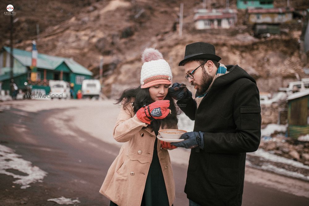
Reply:
[[214, 45], [204, 42], [195, 42], [186, 46], [184, 59], [179, 62], [179, 66], [183, 66], [187, 60], [207, 59], [220, 61], [221, 57], [216, 55]]

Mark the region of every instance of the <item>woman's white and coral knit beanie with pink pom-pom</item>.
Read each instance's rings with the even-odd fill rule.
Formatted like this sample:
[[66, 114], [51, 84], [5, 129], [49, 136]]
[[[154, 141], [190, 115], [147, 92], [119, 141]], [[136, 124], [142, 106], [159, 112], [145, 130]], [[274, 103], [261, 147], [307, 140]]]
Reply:
[[172, 84], [172, 71], [162, 54], [154, 48], [146, 48], [142, 53], [141, 88], [157, 84]]

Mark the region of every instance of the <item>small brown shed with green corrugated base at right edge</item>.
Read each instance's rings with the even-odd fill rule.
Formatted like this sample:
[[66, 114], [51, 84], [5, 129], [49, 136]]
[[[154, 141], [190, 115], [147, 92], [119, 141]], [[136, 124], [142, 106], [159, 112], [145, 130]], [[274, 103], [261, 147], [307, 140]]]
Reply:
[[288, 137], [309, 134], [309, 90], [288, 97]]

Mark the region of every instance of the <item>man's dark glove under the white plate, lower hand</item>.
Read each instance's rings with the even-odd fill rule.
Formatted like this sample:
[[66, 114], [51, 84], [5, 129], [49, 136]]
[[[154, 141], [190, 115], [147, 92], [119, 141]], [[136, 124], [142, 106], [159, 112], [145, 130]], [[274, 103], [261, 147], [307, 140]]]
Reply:
[[204, 149], [204, 133], [203, 132], [187, 132], [181, 135], [182, 142], [172, 142], [171, 145], [192, 149], [199, 147]]

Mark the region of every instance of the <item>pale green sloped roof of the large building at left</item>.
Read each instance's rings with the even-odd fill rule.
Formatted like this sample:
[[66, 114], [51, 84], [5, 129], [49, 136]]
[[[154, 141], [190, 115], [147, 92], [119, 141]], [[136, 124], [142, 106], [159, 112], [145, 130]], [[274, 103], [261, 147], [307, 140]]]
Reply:
[[[10, 47], [3, 47], [3, 48], [8, 53], [11, 52]], [[25, 50], [13, 48], [13, 56], [24, 66], [28, 66], [28, 67], [31, 66], [31, 61], [32, 61], [31, 51], [25, 51]], [[70, 70], [73, 73], [92, 76], [92, 72], [90, 72], [87, 68], [83, 67], [82, 65], [78, 64], [73, 59], [59, 57], [59, 56], [50, 56], [50, 55], [38, 53], [36, 67], [42, 68], [42, 69], [54, 70], [63, 62], [70, 68]]]

